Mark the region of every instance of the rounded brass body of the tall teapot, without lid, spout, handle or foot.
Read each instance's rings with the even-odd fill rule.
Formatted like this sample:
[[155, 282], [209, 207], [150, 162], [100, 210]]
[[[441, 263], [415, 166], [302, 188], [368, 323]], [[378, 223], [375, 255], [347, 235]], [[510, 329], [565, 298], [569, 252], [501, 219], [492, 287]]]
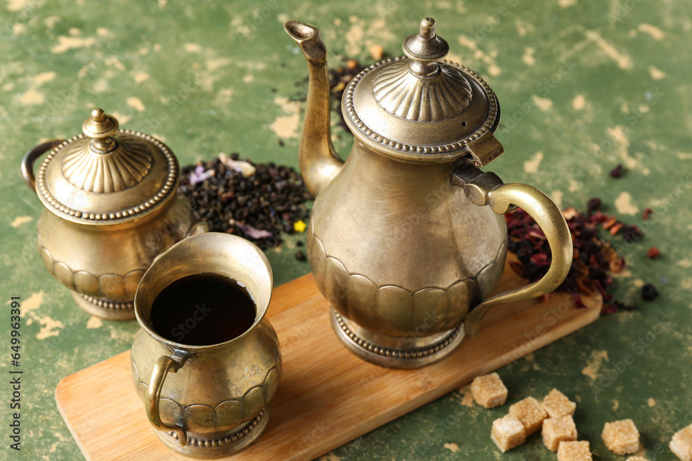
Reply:
[[356, 139], [313, 207], [308, 258], [343, 319], [410, 344], [444, 334], [489, 297], [507, 254], [504, 218], [468, 202], [453, 162], [413, 162]]

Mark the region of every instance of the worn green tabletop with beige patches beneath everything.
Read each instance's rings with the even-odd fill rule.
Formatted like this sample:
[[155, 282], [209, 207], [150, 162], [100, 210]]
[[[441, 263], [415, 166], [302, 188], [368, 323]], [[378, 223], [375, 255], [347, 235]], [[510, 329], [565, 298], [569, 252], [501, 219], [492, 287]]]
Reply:
[[[497, 93], [507, 153], [491, 169], [529, 182], [563, 207], [601, 196], [608, 212], [637, 223], [617, 297], [635, 312], [605, 316], [499, 370], [509, 402], [557, 387], [576, 400], [580, 437], [600, 460], [621, 460], [600, 439], [603, 423], [631, 417], [650, 460], [674, 460], [671, 435], [692, 422], [692, 39], [690, 1], [520, 0], [189, 1], [8, 0], [0, 4], [0, 367], [10, 375], [10, 297], [19, 296], [21, 451], [10, 449], [9, 379], [0, 385], [0, 458], [75, 460], [80, 452], [53, 393], [66, 375], [127, 350], [136, 323], [90, 318], [44, 269], [36, 250], [39, 200], [19, 160], [40, 140], [80, 132], [94, 107], [120, 126], [166, 142], [182, 164], [219, 151], [298, 165], [307, 75], [285, 19], [322, 29], [331, 62], [370, 63], [421, 17], [437, 19], [448, 59], [476, 70]], [[343, 156], [351, 136], [334, 132]], [[281, 141], [281, 142], [279, 142]], [[618, 163], [619, 180], [608, 176]], [[652, 208], [655, 219], [641, 212]], [[309, 271], [295, 242], [268, 251], [277, 285]], [[646, 250], [661, 249], [650, 261]], [[661, 292], [638, 298], [643, 283]], [[532, 437], [501, 454], [491, 422], [468, 389], [441, 397], [325, 456], [325, 460], [549, 460]]]

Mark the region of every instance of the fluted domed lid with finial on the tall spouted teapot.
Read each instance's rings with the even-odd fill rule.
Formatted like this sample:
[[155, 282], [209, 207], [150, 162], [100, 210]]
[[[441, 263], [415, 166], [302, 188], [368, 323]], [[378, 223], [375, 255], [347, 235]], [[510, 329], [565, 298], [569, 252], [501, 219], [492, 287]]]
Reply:
[[448, 51], [435, 19], [424, 18], [403, 42], [406, 57], [378, 62], [349, 83], [342, 101], [349, 128], [402, 158], [468, 157], [482, 167], [500, 156], [498, 99], [473, 70], [444, 60]]

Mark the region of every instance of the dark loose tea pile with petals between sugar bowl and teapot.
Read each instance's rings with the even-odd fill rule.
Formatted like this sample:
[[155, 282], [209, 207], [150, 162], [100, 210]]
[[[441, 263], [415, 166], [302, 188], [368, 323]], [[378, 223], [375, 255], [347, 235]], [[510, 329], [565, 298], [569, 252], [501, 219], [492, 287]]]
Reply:
[[293, 168], [239, 160], [237, 153], [181, 169], [179, 192], [195, 218], [212, 232], [236, 234], [260, 247], [281, 243], [281, 233], [309, 216], [311, 196]]

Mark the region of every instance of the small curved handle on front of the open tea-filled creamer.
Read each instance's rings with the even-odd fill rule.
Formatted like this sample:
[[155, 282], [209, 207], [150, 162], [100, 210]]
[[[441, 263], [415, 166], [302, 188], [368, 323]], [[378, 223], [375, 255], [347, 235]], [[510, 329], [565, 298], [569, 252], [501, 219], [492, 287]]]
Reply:
[[181, 366], [185, 364], [186, 359], [188, 359], [187, 352], [179, 350], [176, 350], [170, 357], [167, 355], [158, 357], [156, 364], [154, 364], [154, 369], [152, 370], [152, 377], [149, 379], [149, 387], [147, 388], [147, 395], [144, 400], [144, 406], [147, 409], [147, 418], [149, 418], [149, 422], [152, 423], [154, 429], [158, 429], [159, 431], [174, 431], [178, 435], [180, 446], [188, 444], [188, 433], [185, 432], [185, 426], [183, 426], [183, 424], [166, 424], [161, 421], [161, 413], [158, 411], [158, 402], [161, 399], [161, 389], [163, 388], [163, 382], [168, 372], [172, 370], [173, 373], [176, 373]]

